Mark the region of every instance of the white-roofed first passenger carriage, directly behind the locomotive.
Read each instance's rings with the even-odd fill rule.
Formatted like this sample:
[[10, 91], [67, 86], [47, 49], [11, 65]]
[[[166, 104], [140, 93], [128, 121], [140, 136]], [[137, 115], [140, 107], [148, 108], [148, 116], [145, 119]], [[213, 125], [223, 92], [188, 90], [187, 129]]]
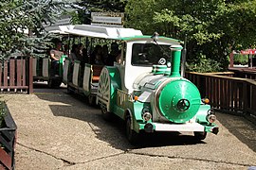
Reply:
[[[120, 42], [121, 37], [132, 37], [142, 35], [141, 31], [133, 28], [115, 28], [77, 25], [65, 31], [71, 35], [83, 36], [94, 39], [104, 39], [108, 41]], [[69, 93], [80, 93], [87, 97], [90, 105], [95, 104], [99, 87], [101, 70], [104, 65], [82, 64], [75, 60], [74, 63], [67, 59], [64, 64], [64, 83], [67, 84]], [[72, 73], [72, 76], [69, 74]]]

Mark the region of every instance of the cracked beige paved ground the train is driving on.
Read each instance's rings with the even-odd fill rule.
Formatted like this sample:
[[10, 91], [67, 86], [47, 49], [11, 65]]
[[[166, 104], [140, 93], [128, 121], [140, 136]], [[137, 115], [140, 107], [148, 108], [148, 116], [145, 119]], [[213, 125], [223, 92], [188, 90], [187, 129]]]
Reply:
[[[40, 86], [44, 87], [45, 86]], [[1, 94], [18, 126], [16, 169], [247, 169], [256, 165], [256, 127], [218, 113], [220, 132], [195, 143], [192, 134], [158, 133], [129, 144], [122, 122], [65, 89]]]

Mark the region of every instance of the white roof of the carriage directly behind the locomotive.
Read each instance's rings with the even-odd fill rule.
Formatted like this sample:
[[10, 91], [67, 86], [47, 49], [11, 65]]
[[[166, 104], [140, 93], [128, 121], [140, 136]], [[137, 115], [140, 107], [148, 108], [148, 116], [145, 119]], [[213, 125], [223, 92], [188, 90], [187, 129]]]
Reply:
[[142, 35], [142, 32], [140, 30], [134, 28], [105, 27], [91, 25], [72, 26], [64, 32], [73, 35], [97, 37], [104, 39], [120, 39], [123, 37], [133, 37]]

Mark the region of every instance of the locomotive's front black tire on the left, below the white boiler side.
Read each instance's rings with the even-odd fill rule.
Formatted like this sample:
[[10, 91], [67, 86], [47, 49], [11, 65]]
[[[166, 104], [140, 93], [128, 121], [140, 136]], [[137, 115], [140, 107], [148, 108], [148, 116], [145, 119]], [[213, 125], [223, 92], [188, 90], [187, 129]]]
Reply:
[[131, 144], [137, 144], [138, 143], [138, 133], [132, 129], [132, 122], [131, 117], [127, 117], [125, 120], [125, 132], [126, 132], [126, 138]]

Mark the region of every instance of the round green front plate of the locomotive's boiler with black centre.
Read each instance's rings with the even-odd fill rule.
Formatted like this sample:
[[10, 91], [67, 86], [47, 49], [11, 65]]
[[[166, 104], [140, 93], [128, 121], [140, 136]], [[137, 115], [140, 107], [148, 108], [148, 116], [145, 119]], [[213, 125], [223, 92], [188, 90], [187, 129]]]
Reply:
[[174, 123], [185, 123], [199, 110], [201, 96], [192, 82], [176, 79], [168, 82], [156, 93], [160, 114]]

